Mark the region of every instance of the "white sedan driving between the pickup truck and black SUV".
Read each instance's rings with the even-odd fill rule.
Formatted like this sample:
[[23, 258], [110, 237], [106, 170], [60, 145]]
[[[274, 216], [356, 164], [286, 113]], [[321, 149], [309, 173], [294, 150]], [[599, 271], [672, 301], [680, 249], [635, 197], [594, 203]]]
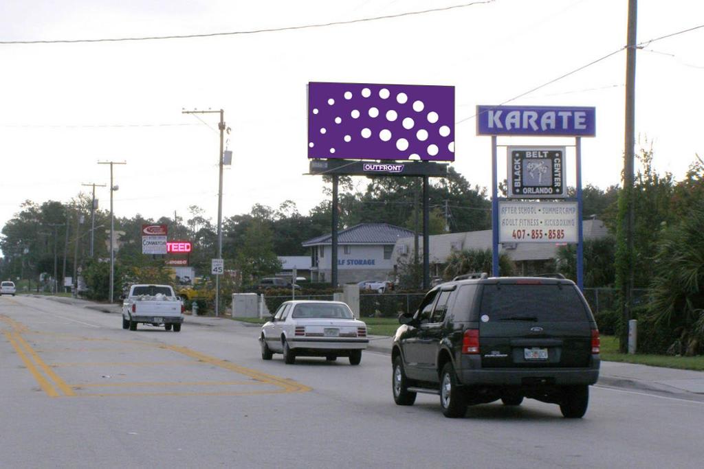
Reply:
[[351, 365], [358, 365], [369, 339], [367, 325], [345, 303], [287, 301], [262, 326], [259, 342], [264, 360], [275, 353], [283, 354], [287, 364], [296, 356], [325, 356], [328, 361], [348, 356]]

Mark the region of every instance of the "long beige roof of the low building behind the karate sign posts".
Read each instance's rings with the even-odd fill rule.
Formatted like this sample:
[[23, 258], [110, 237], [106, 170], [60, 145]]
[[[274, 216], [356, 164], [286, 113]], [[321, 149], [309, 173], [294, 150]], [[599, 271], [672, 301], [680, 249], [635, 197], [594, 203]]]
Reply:
[[[608, 235], [604, 222], [597, 219], [582, 221], [582, 233], [585, 240], [601, 239]], [[422, 252], [423, 238], [419, 240]], [[401, 238], [394, 248], [394, 259], [401, 255], [413, 253], [413, 236]], [[491, 250], [491, 230], [466, 231], [430, 236], [429, 260], [432, 264], [444, 264], [453, 251], [469, 249]], [[405, 246], [405, 247], [402, 247]], [[505, 252], [513, 261], [554, 259], [557, 255], [557, 243], [513, 243], [499, 245], [499, 252]]]

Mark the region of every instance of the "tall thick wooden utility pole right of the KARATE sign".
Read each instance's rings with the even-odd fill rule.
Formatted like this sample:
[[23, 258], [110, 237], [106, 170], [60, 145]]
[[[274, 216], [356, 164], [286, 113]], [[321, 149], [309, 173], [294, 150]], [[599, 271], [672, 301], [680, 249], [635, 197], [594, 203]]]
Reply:
[[[624, 165], [623, 165], [623, 191], [625, 199], [625, 213], [621, 222], [622, 230], [626, 237], [626, 253], [625, 259], [621, 259], [622, 265], [625, 263], [627, 268], [627, 276], [622, 279], [623, 293], [623, 324], [624, 328], [620, 337], [620, 349], [626, 351], [628, 342], [628, 321], [631, 319], [631, 307], [633, 306], [633, 269], [634, 269], [634, 252], [633, 252], [633, 227], [634, 227], [634, 210], [633, 210], [633, 178], [634, 178], [634, 159], [636, 146], [636, 25], [637, 25], [638, 2], [636, 0], [628, 1], [628, 32], [627, 32], [627, 49], [626, 49], [626, 115], [625, 115], [625, 148], [624, 148]], [[623, 212], [622, 212], [623, 213]]]

